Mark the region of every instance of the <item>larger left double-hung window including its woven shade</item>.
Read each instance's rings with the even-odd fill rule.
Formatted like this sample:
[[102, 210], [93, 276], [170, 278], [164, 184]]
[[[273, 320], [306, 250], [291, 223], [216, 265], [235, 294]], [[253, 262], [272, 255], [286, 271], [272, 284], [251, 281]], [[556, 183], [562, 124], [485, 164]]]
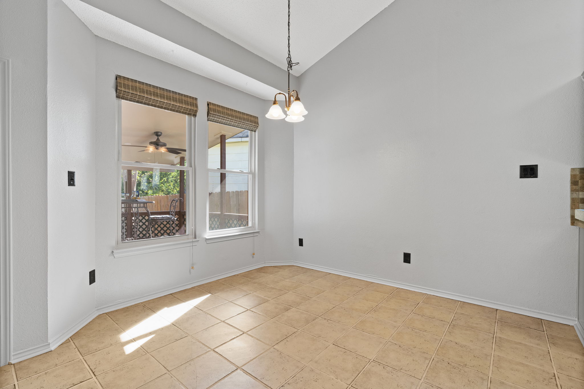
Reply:
[[[131, 82], [138, 83], [134, 92], [141, 94], [126, 99], [126, 95], [117, 93], [119, 243], [191, 235], [194, 115], [185, 114], [192, 111], [169, 103], [173, 100], [172, 93], [184, 95], [135, 80], [123, 80], [128, 80], [130, 85], [126, 89], [134, 86]], [[118, 79], [118, 89], [119, 85]], [[154, 101], [143, 96], [148, 87], [155, 90]], [[164, 93], [171, 93], [171, 97]], [[168, 101], [159, 101], [162, 99]]]

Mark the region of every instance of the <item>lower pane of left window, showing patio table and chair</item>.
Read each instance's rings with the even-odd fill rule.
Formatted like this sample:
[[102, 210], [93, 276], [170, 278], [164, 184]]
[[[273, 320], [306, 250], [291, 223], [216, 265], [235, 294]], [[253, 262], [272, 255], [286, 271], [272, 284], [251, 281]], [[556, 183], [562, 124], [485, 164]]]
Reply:
[[122, 166], [122, 241], [186, 234], [188, 173], [185, 170]]

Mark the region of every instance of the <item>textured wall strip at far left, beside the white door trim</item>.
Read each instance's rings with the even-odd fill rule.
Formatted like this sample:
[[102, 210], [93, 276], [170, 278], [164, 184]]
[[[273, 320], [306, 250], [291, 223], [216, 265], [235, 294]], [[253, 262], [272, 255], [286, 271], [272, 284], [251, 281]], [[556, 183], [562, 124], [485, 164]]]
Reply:
[[11, 63], [12, 341], [47, 342], [47, 3], [0, 1], [0, 57]]

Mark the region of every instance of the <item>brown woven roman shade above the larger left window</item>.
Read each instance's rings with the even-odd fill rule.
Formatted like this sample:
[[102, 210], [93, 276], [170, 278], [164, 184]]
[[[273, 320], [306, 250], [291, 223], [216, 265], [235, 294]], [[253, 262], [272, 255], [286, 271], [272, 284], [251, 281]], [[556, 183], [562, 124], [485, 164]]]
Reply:
[[196, 116], [199, 110], [196, 97], [120, 75], [116, 75], [116, 97], [189, 116]]

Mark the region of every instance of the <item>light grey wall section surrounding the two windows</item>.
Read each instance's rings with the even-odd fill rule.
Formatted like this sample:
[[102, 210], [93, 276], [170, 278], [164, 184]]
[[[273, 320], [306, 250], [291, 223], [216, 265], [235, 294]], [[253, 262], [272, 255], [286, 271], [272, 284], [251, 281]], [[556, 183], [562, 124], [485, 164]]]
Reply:
[[[108, 307], [130, 299], [147, 296], [199, 281], [225, 272], [265, 262], [265, 236], [248, 237], [207, 244], [206, 232], [207, 192], [207, 101], [258, 115], [257, 133], [259, 163], [258, 215], [259, 227], [264, 220], [279, 210], [265, 207], [264, 180], [275, 181], [278, 176], [265, 173], [264, 166], [277, 163], [279, 156], [265, 150], [277, 147], [272, 134], [275, 127], [264, 120], [269, 102], [249, 96], [221, 83], [195, 75], [184, 69], [166, 64], [130, 50], [126, 47], [96, 38], [96, 306]], [[193, 248], [177, 248], [158, 253], [113, 258], [116, 242], [117, 207], [119, 207], [119, 173], [117, 171], [116, 141], [116, 74], [128, 76], [199, 99], [196, 118], [196, 230], [199, 244]], [[291, 145], [288, 145], [291, 148]], [[291, 152], [289, 153], [291, 156]], [[264, 156], [265, 159], [264, 159]], [[288, 160], [291, 166], [291, 160]], [[271, 173], [270, 173], [271, 174]], [[291, 218], [291, 213], [290, 213]], [[252, 253], [256, 253], [252, 257]], [[190, 271], [190, 258], [194, 258], [194, 271]]]

